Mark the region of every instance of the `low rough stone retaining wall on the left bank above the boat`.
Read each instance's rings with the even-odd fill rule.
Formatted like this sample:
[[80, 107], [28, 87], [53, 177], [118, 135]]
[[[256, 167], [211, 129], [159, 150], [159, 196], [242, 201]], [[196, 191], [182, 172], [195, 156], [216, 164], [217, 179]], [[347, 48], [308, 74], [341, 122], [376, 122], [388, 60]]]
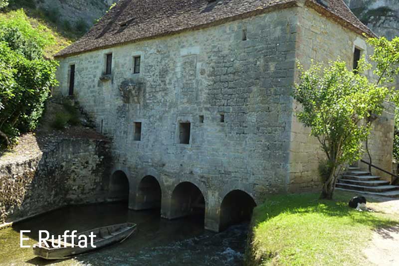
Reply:
[[27, 161], [0, 165], [0, 224], [107, 197], [108, 142], [64, 139]]

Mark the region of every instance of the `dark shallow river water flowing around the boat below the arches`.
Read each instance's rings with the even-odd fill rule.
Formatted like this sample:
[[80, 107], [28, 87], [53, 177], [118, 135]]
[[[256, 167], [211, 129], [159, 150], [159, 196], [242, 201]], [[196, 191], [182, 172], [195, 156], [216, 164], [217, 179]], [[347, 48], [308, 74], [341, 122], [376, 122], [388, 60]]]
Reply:
[[[160, 218], [159, 210], [131, 211], [121, 203], [65, 207], [0, 230], [0, 265], [241, 266], [248, 225], [216, 234], [199, 221], [203, 217], [168, 221]], [[138, 225], [126, 241], [68, 260], [46, 261], [19, 247], [20, 230], [31, 230], [24, 245], [33, 245], [39, 230], [58, 236], [65, 230], [82, 232], [124, 222]]]

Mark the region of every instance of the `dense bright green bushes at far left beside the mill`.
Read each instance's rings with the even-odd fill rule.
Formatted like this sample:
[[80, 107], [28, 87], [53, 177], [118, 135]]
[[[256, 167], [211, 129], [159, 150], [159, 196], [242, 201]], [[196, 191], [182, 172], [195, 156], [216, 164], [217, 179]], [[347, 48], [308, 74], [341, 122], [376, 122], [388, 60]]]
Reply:
[[[36, 128], [57, 63], [43, 58], [54, 41], [40, 26], [33, 28], [22, 10], [0, 16], [0, 144]], [[11, 141], [10, 141], [11, 140]]]

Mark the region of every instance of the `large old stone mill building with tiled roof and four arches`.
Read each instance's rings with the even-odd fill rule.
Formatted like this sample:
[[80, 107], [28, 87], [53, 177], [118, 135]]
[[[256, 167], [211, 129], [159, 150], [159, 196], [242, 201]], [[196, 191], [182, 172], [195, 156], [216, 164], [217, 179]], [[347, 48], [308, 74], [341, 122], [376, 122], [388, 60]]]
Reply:
[[[55, 56], [54, 95], [112, 138], [110, 199], [168, 219], [203, 212], [219, 231], [268, 194], [320, 187], [322, 152], [290, 96], [296, 61], [352, 67], [370, 53], [363, 34], [343, 0], [120, 0]], [[392, 115], [375, 127], [374, 161], [389, 169]]]

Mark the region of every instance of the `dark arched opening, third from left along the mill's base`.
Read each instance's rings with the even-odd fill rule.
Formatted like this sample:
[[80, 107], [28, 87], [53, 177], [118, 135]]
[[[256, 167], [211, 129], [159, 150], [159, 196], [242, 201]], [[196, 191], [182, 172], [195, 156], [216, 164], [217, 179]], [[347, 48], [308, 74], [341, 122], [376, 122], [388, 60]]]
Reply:
[[202, 219], [205, 216], [205, 199], [200, 189], [190, 182], [183, 182], [172, 192], [170, 219], [184, 216], [196, 216]]

